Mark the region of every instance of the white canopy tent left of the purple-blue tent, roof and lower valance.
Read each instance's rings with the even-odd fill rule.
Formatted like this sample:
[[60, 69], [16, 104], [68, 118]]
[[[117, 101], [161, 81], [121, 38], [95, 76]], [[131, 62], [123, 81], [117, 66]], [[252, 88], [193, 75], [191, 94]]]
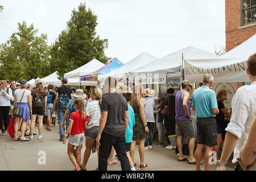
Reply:
[[[74, 69], [71, 72], [65, 73], [64, 78], [68, 78], [68, 85], [78, 86], [80, 85], [80, 76], [87, 75], [104, 67], [104, 64], [98, 61], [97, 59], [93, 59], [89, 63], [82, 65], [81, 67]], [[81, 85], [97, 85], [98, 82], [92, 81], [81, 81]]]

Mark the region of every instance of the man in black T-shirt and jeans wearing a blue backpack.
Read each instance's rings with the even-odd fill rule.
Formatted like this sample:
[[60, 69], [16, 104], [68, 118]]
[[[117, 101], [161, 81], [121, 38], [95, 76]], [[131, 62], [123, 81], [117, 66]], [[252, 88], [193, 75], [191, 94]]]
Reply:
[[[68, 86], [68, 79], [63, 78], [61, 80], [61, 85], [56, 92], [56, 98], [55, 98], [55, 107], [56, 105], [59, 105], [57, 107], [57, 114], [58, 114], [58, 120], [59, 120], [59, 129], [60, 129], [60, 141], [64, 140], [64, 130], [61, 127], [62, 121], [64, 118], [66, 106], [68, 105], [69, 100], [73, 98], [73, 91], [72, 89]], [[65, 99], [65, 96], [68, 95], [68, 100]], [[62, 96], [62, 97], [60, 97]], [[65, 99], [65, 101], [64, 101]], [[56, 108], [55, 108], [56, 109]], [[68, 122], [68, 121], [66, 121]]]

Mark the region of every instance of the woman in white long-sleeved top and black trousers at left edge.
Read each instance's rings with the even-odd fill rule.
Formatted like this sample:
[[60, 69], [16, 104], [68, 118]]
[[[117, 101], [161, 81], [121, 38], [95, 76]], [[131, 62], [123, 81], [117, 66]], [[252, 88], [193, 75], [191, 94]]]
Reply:
[[13, 92], [7, 87], [5, 80], [0, 81], [0, 136], [2, 135], [2, 119], [5, 125], [5, 133], [7, 135], [7, 128], [9, 126], [9, 111], [11, 106], [11, 100], [13, 100]]

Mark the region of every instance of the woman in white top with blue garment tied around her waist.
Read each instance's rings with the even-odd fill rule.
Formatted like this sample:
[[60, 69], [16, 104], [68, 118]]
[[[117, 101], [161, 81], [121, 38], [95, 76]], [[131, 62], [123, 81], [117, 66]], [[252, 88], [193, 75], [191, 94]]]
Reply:
[[[30, 115], [32, 114], [32, 103], [31, 103], [31, 92], [27, 88], [27, 81], [22, 80], [20, 81], [20, 89], [15, 90], [14, 92], [14, 106], [19, 106], [19, 117], [15, 118], [14, 123], [14, 133], [15, 133], [15, 141], [20, 140], [20, 142], [29, 141], [30, 139], [27, 139], [24, 137], [25, 129], [27, 127], [27, 121], [30, 118]], [[22, 118], [22, 125], [20, 127], [20, 138], [18, 135], [19, 131], [19, 123], [20, 119]]]

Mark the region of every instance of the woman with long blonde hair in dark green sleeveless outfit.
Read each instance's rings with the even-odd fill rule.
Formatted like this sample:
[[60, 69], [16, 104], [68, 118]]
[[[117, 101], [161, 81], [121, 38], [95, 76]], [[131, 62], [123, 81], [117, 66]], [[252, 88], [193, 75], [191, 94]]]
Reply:
[[[131, 95], [130, 105], [133, 107], [135, 114], [135, 125], [133, 126], [133, 141], [131, 142], [130, 154], [131, 159], [134, 161], [134, 152], [136, 141], [139, 140], [139, 156], [141, 158], [140, 168], [147, 167], [147, 164], [144, 163], [144, 143], [148, 135], [148, 127], [146, 121], [146, 115], [144, 113], [144, 98], [143, 86], [142, 84], [136, 84], [133, 87], [133, 94]], [[137, 164], [134, 163], [134, 166]]]

